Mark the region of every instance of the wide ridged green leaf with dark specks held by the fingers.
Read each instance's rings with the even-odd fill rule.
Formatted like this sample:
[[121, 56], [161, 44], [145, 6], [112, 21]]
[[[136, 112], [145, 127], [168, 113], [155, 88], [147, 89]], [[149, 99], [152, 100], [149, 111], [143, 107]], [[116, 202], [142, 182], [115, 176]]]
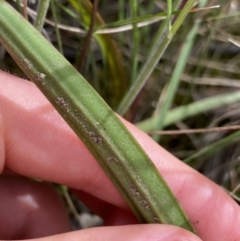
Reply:
[[4, 0], [0, 0], [0, 26], [3, 46], [83, 141], [138, 219], [194, 232], [166, 182], [119, 118], [77, 70]]

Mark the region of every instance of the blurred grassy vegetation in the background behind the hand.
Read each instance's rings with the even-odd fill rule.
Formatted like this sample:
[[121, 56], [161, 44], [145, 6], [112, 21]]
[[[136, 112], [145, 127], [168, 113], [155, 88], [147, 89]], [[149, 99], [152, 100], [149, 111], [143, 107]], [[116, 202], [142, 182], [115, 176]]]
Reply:
[[[8, 2], [35, 22], [37, 0]], [[240, 2], [196, 1], [157, 54], [167, 9], [166, 0], [51, 0], [42, 34], [115, 111], [239, 202]], [[24, 77], [1, 46], [0, 69]]]

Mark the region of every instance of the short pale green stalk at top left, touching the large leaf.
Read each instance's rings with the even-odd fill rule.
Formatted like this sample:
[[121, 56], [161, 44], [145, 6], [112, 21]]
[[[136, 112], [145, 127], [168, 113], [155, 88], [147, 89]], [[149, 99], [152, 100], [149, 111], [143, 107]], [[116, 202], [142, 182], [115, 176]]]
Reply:
[[38, 8], [37, 8], [37, 17], [36, 17], [36, 21], [35, 21], [35, 28], [41, 32], [42, 31], [42, 27], [46, 18], [46, 14], [48, 11], [48, 7], [49, 7], [49, 1], [50, 0], [39, 0], [38, 1]]

